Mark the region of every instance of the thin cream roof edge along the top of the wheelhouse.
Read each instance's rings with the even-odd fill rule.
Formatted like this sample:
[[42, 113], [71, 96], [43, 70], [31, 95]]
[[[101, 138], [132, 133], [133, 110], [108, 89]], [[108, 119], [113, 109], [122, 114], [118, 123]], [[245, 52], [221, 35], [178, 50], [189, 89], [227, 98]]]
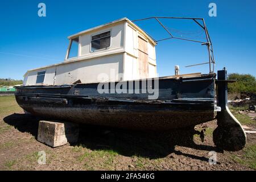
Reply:
[[77, 37], [80, 36], [80, 35], [83, 35], [83, 34], [92, 32], [92, 31], [97, 30], [97, 29], [100, 29], [100, 28], [104, 28], [104, 27], [106, 27], [106, 26], [111, 26], [111, 25], [117, 24], [117, 23], [119, 23], [119, 22], [125, 22], [125, 21], [126, 21], [127, 23], [129, 23], [131, 26], [133, 26], [135, 29], [137, 29], [139, 32], [141, 32], [141, 34], [143, 34], [144, 36], [146, 36], [146, 38], [147, 38], [148, 40], [150, 40], [150, 42], [151, 42], [152, 44], [156, 45], [155, 40], [153, 40], [150, 36], [148, 36], [148, 34], [147, 34], [145, 31], [143, 31], [141, 28], [139, 28], [136, 24], [134, 24], [133, 22], [131, 22], [131, 20], [129, 20], [129, 19], [126, 18], [126, 17], [121, 18], [121, 19], [114, 20], [114, 21], [109, 22], [109, 23], [101, 24], [100, 26], [97, 26], [97, 27], [89, 28], [89, 29], [87, 29], [87, 30], [78, 32], [78, 33], [76, 33], [76, 34], [73, 34], [73, 35], [71, 35], [71, 36], [68, 36], [68, 39], [75, 39], [75, 38], [77, 38]]

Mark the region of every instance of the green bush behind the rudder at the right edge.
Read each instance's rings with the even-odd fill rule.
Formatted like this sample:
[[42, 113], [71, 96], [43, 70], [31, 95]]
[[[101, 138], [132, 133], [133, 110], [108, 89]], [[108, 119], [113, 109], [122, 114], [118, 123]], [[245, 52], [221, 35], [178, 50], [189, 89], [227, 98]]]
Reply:
[[256, 92], [256, 79], [253, 75], [230, 73], [228, 80], [236, 80], [236, 82], [228, 84], [230, 93]]

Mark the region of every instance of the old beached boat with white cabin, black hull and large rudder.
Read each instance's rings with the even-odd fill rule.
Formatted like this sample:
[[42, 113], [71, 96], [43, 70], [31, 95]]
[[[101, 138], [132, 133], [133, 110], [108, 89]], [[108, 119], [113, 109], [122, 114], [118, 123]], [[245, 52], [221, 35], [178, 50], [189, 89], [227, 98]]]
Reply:
[[[163, 26], [163, 18], [175, 17], [146, 19]], [[226, 106], [226, 71], [216, 79], [204, 19], [175, 19], [191, 19], [205, 31], [207, 42], [200, 43], [208, 48], [209, 73], [179, 75], [177, 69], [174, 76], [157, 77], [157, 41], [122, 18], [69, 36], [64, 62], [27, 71], [23, 85], [16, 86], [16, 101], [26, 112], [47, 119], [141, 130], [191, 127], [217, 115], [214, 142], [242, 148], [246, 135]], [[163, 28], [168, 39], [182, 39]]]

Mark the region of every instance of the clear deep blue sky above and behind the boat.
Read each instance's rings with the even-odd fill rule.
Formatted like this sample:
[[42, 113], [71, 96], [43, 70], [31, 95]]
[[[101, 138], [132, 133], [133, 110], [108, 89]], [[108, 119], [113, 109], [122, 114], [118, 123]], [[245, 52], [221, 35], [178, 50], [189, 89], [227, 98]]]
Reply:
[[[46, 17], [38, 16], [38, 4], [46, 4]], [[217, 5], [217, 17], [208, 15], [208, 5]], [[256, 1], [1, 1], [0, 78], [23, 79], [28, 69], [60, 63], [67, 51], [67, 36], [88, 28], [127, 17], [192, 16], [205, 18], [216, 57], [216, 70], [250, 73], [256, 76]], [[191, 22], [164, 22], [184, 35], [201, 36]], [[148, 33], [161, 38], [163, 30], [151, 22], [138, 23]], [[156, 24], [155, 24], [156, 25]], [[181, 33], [177, 33], [181, 34]], [[198, 34], [198, 35], [197, 35]], [[200, 38], [200, 37], [199, 37]], [[208, 65], [185, 68], [207, 61], [206, 48], [182, 40], [159, 42], [156, 46], [159, 76], [181, 73], [208, 73]]]

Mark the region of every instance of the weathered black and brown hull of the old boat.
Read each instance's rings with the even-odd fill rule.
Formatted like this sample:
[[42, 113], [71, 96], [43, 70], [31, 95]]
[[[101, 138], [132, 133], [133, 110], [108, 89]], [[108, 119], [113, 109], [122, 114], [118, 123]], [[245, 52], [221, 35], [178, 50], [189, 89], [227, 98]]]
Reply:
[[215, 75], [159, 78], [157, 100], [148, 100], [148, 93], [100, 94], [98, 84], [19, 86], [15, 96], [24, 110], [47, 119], [168, 130], [214, 119], [214, 80]]

